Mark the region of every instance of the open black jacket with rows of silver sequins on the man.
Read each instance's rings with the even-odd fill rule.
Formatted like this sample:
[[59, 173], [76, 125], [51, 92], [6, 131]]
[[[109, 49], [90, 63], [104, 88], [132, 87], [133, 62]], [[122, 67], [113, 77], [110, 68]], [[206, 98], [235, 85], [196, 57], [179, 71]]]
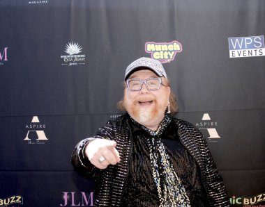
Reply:
[[[188, 122], [176, 118], [173, 120], [179, 128], [181, 143], [199, 165], [202, 183], [208, 194], [210, 206], [230, 206], [222, 177], [218, 174], [218, 169], [202, 133]], [[126, 115], [121, 115], [121, 117], [107, 122], [93, 138], [115, 140], [121, 162], [116, 165], [109, 165], [104, 170], [93, 167], [83, 154], [84, 147], [92, 138], [86, 138], [77, 144], [71, 162], [77, 172], [86, 177], [93, 176], [95, 179], [97, 183], [95, 206], [119, 206], [123, 187], [126, 183], [132, 149], [132, 133], [128, 118]]]

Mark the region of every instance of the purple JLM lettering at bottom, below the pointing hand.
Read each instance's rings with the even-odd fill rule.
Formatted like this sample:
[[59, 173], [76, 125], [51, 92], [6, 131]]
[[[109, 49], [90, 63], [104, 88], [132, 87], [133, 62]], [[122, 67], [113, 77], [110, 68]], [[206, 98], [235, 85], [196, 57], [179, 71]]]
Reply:
[[75, 194], [75, 192], [63, 192], [63, 204], [60, 206], [93, 206], [93, 192], [86, 194], [85, 192], [80, 192]]

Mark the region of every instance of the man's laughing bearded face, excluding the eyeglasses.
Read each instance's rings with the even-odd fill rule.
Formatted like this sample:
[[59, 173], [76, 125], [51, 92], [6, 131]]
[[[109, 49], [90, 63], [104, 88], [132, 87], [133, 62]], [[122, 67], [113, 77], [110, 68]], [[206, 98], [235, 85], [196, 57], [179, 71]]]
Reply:
[[[128, 79], [132, 78], [146, 80], [158, 76], [149, 69], [142, 69], [131, 74]], [[162, 83], [167, 85], [165, 77], [162, 77]], [[139, 91], [130, 91], [128, 87], [124, 90], [124, 106], [130, 116], [152, 130], [156, 130], [165, 117], [170, 88], [164, 85], [161, 84], [158, 90], [148, 90], [145, 84]]]

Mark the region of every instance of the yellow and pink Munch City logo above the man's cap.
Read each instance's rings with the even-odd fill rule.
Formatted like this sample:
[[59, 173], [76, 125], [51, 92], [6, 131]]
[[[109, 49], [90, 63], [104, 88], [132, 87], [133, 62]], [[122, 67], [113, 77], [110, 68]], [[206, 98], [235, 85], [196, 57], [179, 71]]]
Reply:
[[174, 60], [176, 53], [182, 51], [182, 45], [178, 41], [172, 42], [146, 42], [146, 53], [151, 53], [151, 58], [161, 63], [169, 63]]

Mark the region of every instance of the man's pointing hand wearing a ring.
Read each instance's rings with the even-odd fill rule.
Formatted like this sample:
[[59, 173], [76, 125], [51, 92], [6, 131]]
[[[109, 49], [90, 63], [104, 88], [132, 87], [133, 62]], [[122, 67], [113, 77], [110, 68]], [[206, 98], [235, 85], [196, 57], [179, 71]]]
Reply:
[[121, 161], [115, 147], [115, 141], [96, 139], [86, 146], [84, 154], [95, 167], [105, 169], [108, 165], [116, 165]]

